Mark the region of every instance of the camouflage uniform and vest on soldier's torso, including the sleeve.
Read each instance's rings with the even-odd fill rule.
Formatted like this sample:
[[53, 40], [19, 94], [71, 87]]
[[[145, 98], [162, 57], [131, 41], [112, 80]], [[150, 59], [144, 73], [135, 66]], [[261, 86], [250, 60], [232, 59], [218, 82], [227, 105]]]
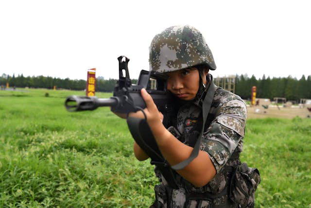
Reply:
[[[180, 141], [189, 146], [195, 144], [202, 128], [202, 124], [196, 128], [200, 124], [198, 118], [202, 112], [202, 106], [196, 103], [193, 101], [180, 107], [177, 113], [177, 125], [168, 128], [173, 135], [177, 135]], [[155, 186], [156, 202], [151, 208], [208, 208], [210, 206], [237, 208], [239, 197], [243, 198], [243, 196], [236, 194], [238, 200], [233, 201], [231, 198], [235, 196], [229, 194], [229, 189], [234, 168], [241, 164], [239, 155], [243, 147], [246, 115], [246, 105], [238, 95], [218, 88], [208, 114], [214, 119], [205, 130], [201, 142], [201, 150], [208, 153], [217, 174], [207, 185], [197, 188], [175, 173], [179, 189], [171, 189], [159, 170], [155, 168], [161, 184]], [[239, 180], [241, 178], [236, 182], [242, 183]], [[255, 181], [255, 184], [258, 185], [259, 181]], [[253, 207], [254, 198], [250, 197], [244, 205], [246, 205], [244, 207]]]

